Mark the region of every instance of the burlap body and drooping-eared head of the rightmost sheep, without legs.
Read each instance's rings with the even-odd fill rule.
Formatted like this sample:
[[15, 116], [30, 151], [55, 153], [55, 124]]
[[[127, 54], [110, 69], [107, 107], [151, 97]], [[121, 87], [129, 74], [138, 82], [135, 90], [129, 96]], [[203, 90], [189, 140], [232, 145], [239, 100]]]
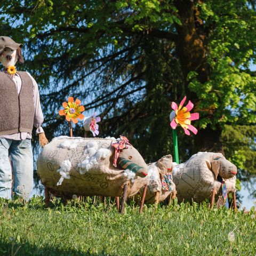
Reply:
[[221, 153], [199, 152], [173, 168], [173, 181], [177, 189], [178, 201], [200, 203], [210, 198], [213, 188], [221, 193], [221, 182], [225, 181], [228, 191], [235, 191], [237, 168]]

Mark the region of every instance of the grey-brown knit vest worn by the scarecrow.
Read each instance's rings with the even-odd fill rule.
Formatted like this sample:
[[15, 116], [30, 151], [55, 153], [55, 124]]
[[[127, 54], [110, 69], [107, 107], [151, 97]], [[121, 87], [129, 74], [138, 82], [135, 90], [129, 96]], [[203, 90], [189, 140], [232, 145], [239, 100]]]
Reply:
[[5, 72], [0, 72], [0, 135], [31, 133], [33, 129], [33, 81], [24, 71], [18, 74], [21, 78], [19, 94], [13, 79]]

